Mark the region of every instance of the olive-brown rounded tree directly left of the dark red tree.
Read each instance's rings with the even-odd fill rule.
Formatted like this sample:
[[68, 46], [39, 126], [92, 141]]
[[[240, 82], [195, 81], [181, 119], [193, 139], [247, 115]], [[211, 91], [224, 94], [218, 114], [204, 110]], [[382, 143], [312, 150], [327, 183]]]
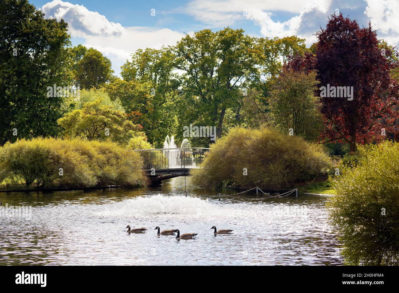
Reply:
[[294, 135], [316, 140], [323, 127], [316, 73], [286, 70], [273, 81], [269, 97], [271, 120], [282, 133], [293, 129]]

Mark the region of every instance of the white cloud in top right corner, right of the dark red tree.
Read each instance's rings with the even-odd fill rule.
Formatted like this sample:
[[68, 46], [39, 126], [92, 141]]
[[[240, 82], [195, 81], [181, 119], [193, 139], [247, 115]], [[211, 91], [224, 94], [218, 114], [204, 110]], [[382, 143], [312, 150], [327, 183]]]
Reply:
[[398, 0], [365, 0], [367, 7], [364, 14], [371, 24], [381, 33], [389, 45], [399, 42], [399, 1]]

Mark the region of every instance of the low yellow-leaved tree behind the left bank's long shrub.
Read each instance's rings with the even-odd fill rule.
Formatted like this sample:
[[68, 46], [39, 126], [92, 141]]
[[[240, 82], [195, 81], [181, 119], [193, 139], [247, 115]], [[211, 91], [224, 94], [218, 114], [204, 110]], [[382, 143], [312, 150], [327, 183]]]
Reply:
[[86, 140], [111, 140], [126, 146], [139, 130], [126, 119], [126, 114], [102, 104], [101, 99], [87, 102], [82, 109], [74, 110], [58, 120], [67, 139], [79, 137]]

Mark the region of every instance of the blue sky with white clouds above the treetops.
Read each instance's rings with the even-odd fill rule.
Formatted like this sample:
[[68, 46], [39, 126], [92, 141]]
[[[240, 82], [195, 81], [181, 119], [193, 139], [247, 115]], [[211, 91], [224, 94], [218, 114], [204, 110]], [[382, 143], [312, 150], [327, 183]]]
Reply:
[[[311, 45], [314, 33], [339, 10], [399, 45], [399, 0], [191, 0], [191, 1], [43, 1], [30, 0], [47, 18], [69, 24], [73, 45], [94, 47], [120, 66], [139, 48], [174, 45], [184, 36], [209, 28], [243, 28], [258, 37], [298, 35]], [[154, 9], [155, 15], [151, 16]]]

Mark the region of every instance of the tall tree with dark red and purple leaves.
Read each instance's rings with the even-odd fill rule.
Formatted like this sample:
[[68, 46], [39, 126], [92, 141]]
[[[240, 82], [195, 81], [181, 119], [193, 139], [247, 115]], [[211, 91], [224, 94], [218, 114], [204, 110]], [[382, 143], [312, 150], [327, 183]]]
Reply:
[[397, 133], [394, 121], [398, 115], [395, 105], [399, 85], [390, 75], [391, 69], [398, 66], [391, 58], [395, 52], [379, 49], [377, 33], [371, 24], [359, 28], [355, 20], [342, 14], [330, 16], [326, 29], [320, 29], [316, 35], [316, 55], [296, 56], [287, 67], [316, 69], [320, 88], [353, 87], [353, 97], [322, 96], [321, 112], [326, 118], [324, 139], [344, 140], [351, 151], [356, 151], [356, 143], [381, 140], [385, 138], [381, 135], [384, 131]]

